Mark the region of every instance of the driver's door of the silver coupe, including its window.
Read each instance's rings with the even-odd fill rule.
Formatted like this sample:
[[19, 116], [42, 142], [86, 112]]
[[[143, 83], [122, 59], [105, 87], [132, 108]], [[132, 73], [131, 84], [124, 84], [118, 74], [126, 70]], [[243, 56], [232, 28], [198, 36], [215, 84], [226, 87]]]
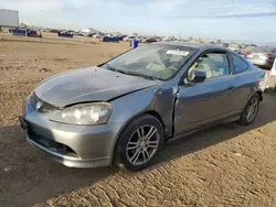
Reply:
[[234, 79], [226, 52], [202, 54], [183, 78], [192, 69], [205, 70], [206, 79], [198, 84], [180, 84], [174, 110], [176, 135], [224, 119], [233, 112]]

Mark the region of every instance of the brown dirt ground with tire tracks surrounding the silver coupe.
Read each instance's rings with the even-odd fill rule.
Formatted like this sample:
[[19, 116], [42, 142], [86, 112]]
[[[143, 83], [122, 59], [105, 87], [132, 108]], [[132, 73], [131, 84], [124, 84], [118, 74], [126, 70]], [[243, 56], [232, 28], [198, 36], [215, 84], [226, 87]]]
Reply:
[[33, 149], [18, 123], [21, 101], [43, 78], [128, 50], [99, 43], [0, 34], [0, 206], [276, 206], [276, 94], [254, 124], [223, 124], [178, 140], [157, 165], [68, 168]]

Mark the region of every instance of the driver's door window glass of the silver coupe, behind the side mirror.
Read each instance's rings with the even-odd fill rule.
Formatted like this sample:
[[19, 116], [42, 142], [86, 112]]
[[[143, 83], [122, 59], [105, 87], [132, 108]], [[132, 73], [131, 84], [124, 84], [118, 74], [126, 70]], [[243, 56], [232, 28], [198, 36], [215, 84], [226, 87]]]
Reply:
[[200, 56], [188, 70], [189, 77], [192, 70], [199, 69], [206, 73], [206, 78], [225, 76], [230, 74], [226, 53], [211, 52]]

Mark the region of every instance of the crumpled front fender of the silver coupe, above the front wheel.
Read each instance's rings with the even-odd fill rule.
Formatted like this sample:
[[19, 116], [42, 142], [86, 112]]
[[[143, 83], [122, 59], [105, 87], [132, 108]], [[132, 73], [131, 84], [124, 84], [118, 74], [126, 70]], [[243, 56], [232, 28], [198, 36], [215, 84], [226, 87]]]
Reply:
[[163, 85], [146, 88], [110, 101], [113, 113], [108, 121], [124, 123], [115, 139], [114, 148], [125, 127], [136, 117], [149, 111], [160, 116], [166, 135], [171, 135], [176, 94], [176, 87]]

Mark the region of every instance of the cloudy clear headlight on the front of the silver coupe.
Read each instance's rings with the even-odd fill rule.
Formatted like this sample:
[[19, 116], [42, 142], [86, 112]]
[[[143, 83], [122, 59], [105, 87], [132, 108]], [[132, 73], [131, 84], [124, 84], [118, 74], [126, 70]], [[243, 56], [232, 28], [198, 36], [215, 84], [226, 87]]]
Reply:
[[70, 124], [103, 124], [112, 113], [112, 106], [107, 102], [75, 105], [55, 113], [51, 121]]

